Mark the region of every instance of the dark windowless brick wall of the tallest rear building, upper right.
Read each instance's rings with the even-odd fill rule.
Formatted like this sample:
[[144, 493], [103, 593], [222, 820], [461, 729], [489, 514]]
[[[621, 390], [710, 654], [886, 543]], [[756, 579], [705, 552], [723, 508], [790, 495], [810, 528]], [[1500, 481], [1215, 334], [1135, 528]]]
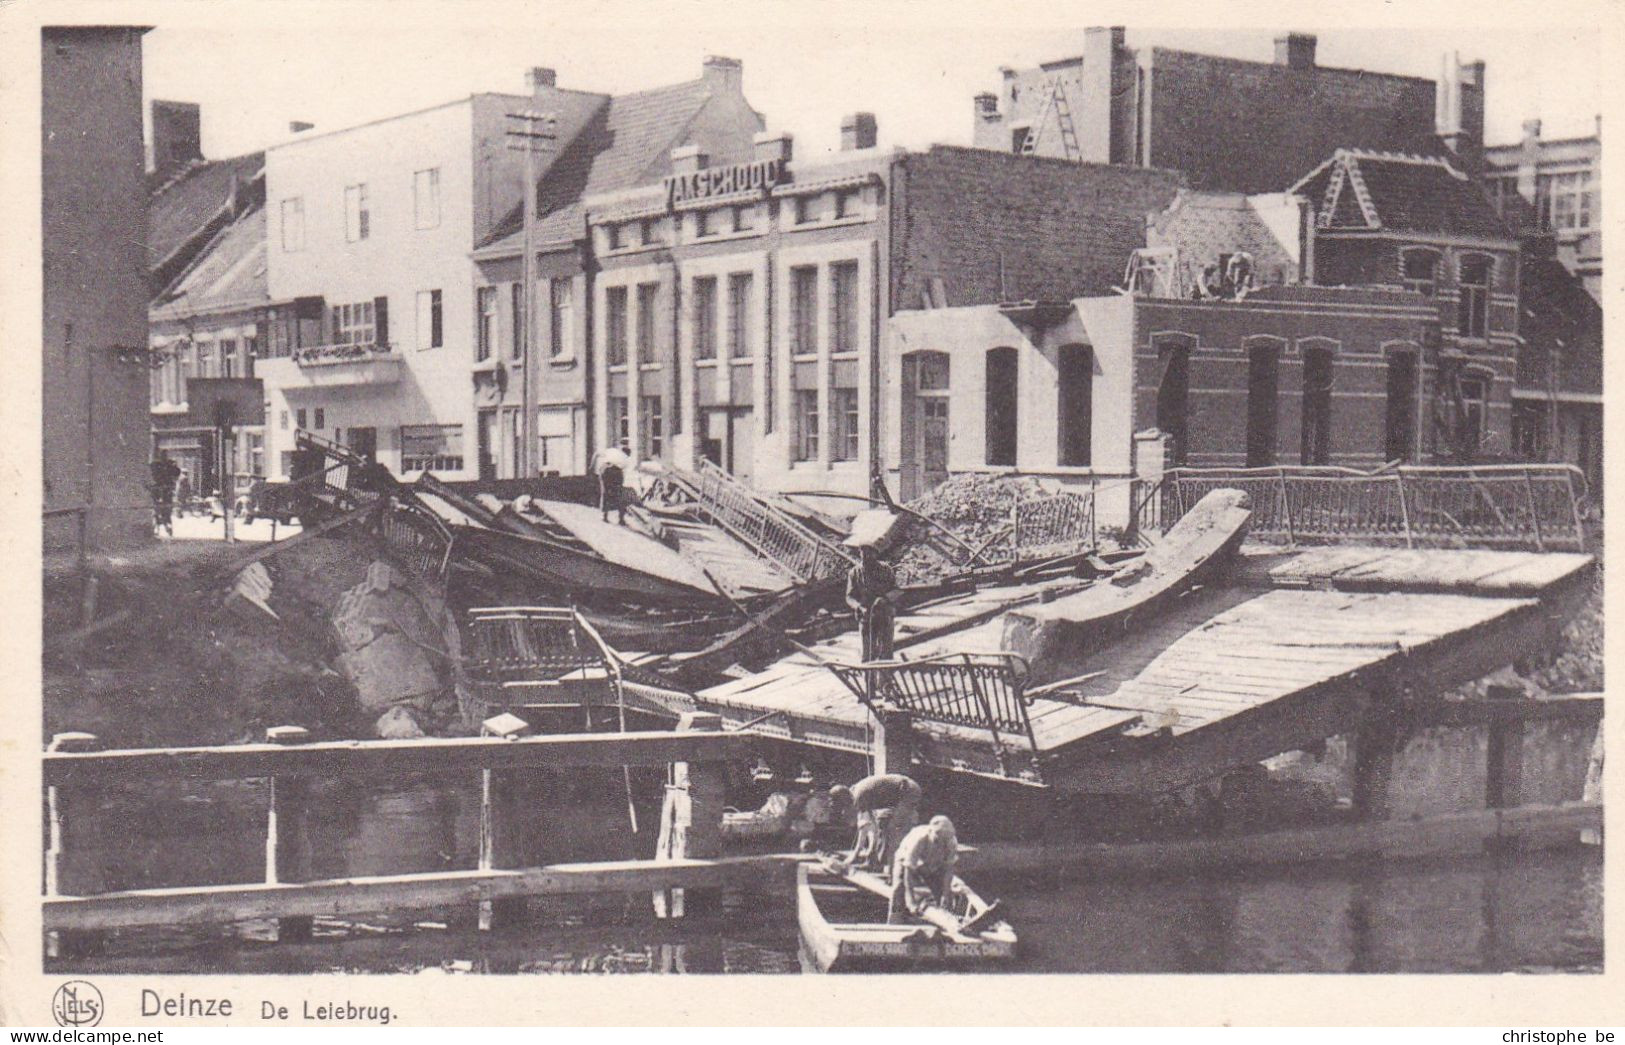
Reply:
[[1152, 50], [1150, 164], [1194, 189], [1282, 192], [1337, 148], [1440, 151], [1433, 81]]

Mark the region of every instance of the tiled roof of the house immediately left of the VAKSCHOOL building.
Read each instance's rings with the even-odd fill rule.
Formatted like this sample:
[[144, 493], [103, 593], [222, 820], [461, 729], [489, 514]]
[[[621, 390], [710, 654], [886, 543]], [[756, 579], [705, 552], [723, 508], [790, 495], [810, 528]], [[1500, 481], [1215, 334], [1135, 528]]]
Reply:
[[[671, 150], [712, 98], [704, 80], [618, 94], [587, 122], [541, 179], [536, 242], [574, 241], [582, 234], [582, 197], [647, 184], [670, 171]], [[481, 245], [518, 247], [522, 208], [514, 208]]]

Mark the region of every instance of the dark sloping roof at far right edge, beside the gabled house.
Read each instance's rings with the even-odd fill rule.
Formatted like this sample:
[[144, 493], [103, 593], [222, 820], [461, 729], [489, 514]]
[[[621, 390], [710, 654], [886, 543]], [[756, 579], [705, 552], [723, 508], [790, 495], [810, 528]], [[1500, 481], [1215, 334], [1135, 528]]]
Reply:
[[1547, 392], [1545, 359], [1558, 358], [1558, 392], [1602, 392], [1602, 306], [1557, 260], [1550, 244], [1526, 241], [1519, 265], [1519, 385]]

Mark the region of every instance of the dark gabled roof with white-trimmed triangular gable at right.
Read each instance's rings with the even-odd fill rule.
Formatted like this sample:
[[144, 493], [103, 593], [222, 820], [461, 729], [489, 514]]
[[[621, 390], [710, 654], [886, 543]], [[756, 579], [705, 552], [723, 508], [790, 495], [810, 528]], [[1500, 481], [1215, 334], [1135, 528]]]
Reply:
[[1388, 231], [1513, 241], [1484, 187], [1443, 156], [1337, 150], [1289, 190], [1324, 231]]

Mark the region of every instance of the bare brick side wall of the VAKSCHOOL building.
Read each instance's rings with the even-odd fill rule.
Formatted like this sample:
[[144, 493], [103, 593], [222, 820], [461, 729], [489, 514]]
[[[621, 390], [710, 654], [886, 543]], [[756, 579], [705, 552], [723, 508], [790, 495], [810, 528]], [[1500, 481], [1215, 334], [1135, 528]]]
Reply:
[[1146, 215], [1181, 182], [1172, 171], [957, 146], [908, 154], [894, 179], [894, 307], [921, 307], [933, 278], [949, 306], [1108, 294], [1146, 245]]

